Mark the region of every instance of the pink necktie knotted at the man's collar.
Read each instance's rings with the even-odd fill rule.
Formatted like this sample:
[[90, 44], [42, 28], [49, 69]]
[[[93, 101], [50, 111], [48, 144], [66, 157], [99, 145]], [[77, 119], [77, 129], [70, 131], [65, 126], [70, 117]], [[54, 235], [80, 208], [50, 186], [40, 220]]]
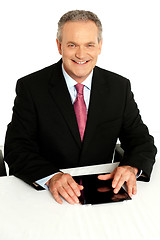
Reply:
[[86, 127], [86, 121], [87, 121], [87, 108], [86, 108], [86, 104], [84, 102], [84, 96], [83, 96], [84, 85], [78, 83], [75, 85], [75, 88], [77, 90], [77, 98], [74, 102], [74, 111], [76, 114], [77, 123], [78, 123], [79, 132], [81, 136], [81, 141], [82, 141], [85, 127]]

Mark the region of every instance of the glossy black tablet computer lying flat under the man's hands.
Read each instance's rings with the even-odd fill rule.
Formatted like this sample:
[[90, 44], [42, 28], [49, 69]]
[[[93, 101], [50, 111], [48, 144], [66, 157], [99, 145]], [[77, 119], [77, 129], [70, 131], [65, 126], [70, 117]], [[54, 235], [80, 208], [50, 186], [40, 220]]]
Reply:
[[112, 188], [112, 179], [99, 180], [98, 175], [100, 174], [73, 177], [78, 184], [84, 187], [79, 197], [81, 204], [102, 204], [131, 200], [123, 187], [115, 194]]

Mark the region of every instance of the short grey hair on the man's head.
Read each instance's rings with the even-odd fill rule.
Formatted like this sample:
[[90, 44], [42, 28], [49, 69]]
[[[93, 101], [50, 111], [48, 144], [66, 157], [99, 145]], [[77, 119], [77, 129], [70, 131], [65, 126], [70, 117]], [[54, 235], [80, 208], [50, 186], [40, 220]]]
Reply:
[[96, 14], [85, 10], [73, 10], [65, 13], [58, 22], [57, 39], [62, 41], [62, 29], [66, 22], [93, 21], [99, 31], [98, 42], [102, 40], [102, 24]]

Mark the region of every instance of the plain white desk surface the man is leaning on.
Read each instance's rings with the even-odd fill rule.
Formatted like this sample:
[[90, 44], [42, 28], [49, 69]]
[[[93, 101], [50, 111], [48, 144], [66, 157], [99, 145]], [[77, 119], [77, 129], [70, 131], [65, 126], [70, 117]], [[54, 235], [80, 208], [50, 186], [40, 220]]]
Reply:
[[[13, 176], [1, 177], [0, 239], [160, 240], [159, 169], [160, 159], [151, 181], [138, 182], [138, 193], [131, 201], [93, 206], [59, 205], [49, 191], [36, 191]], [[75, 169], [68, 172], [76, 173]], [[80, 169], [77, 173], [81, 174]]]

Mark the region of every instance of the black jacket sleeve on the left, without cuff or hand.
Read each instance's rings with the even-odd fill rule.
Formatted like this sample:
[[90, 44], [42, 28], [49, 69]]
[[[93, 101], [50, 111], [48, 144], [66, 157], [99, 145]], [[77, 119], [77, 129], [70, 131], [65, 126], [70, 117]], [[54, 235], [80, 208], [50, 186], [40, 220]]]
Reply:
[[58, 172], [59, 169], [41, 154], [36, 109], [26, 85], [22, 80], [17, 82], [12, 121], [6, 132], [4, 157], [10, 174], [37, 187], [36, 180]]

